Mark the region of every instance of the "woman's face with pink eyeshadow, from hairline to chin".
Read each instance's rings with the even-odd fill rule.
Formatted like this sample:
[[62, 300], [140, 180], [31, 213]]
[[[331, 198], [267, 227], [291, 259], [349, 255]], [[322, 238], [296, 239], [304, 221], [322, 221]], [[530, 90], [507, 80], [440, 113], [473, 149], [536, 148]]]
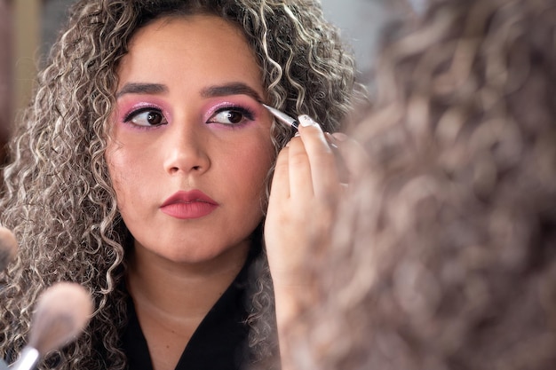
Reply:
[[118, 76], [107, 163], [136, 247], [183, 263], [247, 248], [274, 146], [240, 30], [207, 15], [157, 20]]

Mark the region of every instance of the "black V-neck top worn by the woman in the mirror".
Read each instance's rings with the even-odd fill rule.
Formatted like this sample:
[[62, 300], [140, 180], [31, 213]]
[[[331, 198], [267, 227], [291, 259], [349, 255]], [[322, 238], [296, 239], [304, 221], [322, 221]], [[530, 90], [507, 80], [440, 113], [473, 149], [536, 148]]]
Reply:
[[[230, 287], [210, 309], [179, 358], [176, 370], [239, 370], [244, 362], [249, 328], [246, 287], [252, 253]], [[128, 327], [123, 333], [123, 351], [130, 370], [153, 370], [147, 341], [131, 300], [128, 303]]]

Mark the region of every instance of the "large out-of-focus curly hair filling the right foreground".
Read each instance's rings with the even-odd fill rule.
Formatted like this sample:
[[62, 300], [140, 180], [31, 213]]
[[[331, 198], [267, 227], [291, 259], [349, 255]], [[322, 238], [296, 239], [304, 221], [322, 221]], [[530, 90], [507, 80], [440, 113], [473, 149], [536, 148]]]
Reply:
[[555, 20], [555, 0], [437, 0], [391, 28], [298, 368], [556, 364]]

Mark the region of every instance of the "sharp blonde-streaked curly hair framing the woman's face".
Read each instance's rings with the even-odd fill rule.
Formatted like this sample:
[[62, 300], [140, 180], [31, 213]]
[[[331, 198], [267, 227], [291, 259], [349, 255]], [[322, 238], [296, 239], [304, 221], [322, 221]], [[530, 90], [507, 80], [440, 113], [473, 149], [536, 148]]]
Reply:
[[[36, 298], [53, 282], [88, 287], [96, 311], [84, 335], [41, 368], [123, 369], [126, 325], [124, 246], [131, 235], [118, 213], [105, 150], [115, 106], [118, 62], [137, 30], [161, 17], [207, 13], [241, 28], [258, 58], [269, 103], [311, 114], [338, 130], [349, 111], [354, 61], [338, 29], [312, 0], [83, 0], [39, 73], [4, 169], [0, 217], [20, 240], [17, 260], [0, 274], [0, 355], [26, 342]], [[278, 151], [292, 132], [274, 125]], [[272, 171], [272, 169], [271, 169]], [[275, 352], [272, 288], [265, 261], [253, 281], [253, 361]], [[266, 320], [265, 325], [254, 323]]]

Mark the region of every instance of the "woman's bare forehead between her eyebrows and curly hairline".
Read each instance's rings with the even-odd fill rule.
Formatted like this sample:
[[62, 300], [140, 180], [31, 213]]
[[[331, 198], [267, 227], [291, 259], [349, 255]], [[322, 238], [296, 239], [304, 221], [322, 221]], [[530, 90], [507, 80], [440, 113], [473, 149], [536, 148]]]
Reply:
[[[234, 80], [256, 77], [261, 68], [242, 29], [214, 15], [166, 17], [132, 36], [118, 75], [164, 75], [188, 72], [206, 78], [234, 74]], [[177, 77], [177, 75], [174, 75]]]

